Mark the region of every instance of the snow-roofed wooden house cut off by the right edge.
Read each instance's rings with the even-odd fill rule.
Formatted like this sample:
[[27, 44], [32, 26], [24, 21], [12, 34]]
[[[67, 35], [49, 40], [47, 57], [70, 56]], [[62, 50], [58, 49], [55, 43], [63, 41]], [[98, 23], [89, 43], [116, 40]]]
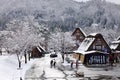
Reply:
[[120, 37], [111, 42], [110, 48], [116, 62], [120, 62]]

